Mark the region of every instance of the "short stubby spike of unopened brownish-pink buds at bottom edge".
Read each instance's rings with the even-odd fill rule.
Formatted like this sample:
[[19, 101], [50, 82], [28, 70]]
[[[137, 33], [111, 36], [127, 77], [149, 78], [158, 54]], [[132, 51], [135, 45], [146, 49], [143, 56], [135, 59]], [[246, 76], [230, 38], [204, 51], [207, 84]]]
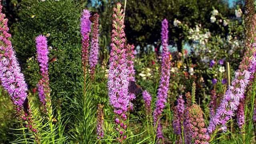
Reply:
[[206, 134], [203, 112], [200, 106], [193, 104], [188, 109], [191, 142], [193, 144], [209, 144], [210, 137]]

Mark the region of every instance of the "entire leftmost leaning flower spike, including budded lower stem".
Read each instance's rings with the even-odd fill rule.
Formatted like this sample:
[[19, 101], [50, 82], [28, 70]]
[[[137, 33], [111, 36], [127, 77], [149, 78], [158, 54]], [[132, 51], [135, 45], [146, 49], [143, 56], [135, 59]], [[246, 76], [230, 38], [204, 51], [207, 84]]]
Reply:
[[[0, 12], [2, 5], [0, 5]], [[28, 86], [25, 82], [24, 75], [20, 72], [20, 66], [12, 49], [12, 43], [8, 38], [11, 34], [8, 33], [7, 19], [4, 19], [5, 14], [0, 13], [0, 81], [3, 88], [8, 92], [12, 99], [14, 108], [17, 112], [17, 117], [20, 120], [26, 121], [29, 125], [28, 130], [32, 132], [37, 143], [40, 143], [39, 137], [36, 134], [38, 130], [34, 128], [34, 122], [31, 119], [32, 114], [28, 104]]]

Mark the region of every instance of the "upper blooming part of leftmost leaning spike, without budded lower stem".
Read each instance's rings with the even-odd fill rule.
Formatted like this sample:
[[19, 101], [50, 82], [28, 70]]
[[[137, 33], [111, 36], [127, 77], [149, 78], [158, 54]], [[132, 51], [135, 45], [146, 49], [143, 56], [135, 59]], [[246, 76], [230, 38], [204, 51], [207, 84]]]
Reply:
[[[1, 10], [2, 6], [0, 5]], [[22, 104], [28, 95], [26, 92], [28, 86], [24, 75], [20, 72], [12, 43], [8, 40], [11, 34], [8, 33], [8, 20], [4, 17], [5, 14], [0, 13], [0, 81], [4, 89], [10, 94], [13, 104], [22, 108]]]

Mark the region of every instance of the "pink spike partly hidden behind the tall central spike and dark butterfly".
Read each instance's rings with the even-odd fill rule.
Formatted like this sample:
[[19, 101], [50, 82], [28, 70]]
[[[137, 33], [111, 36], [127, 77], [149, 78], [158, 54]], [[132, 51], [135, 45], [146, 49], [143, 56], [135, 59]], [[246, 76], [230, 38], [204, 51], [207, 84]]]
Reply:
[[[128, 81], [135, 82], [135, 70], [134, 70], [134, 45], [128, 44], [126, 46], [126, 54], [127, 54], [127, 68], [128, 68]], [[130, 101], [135, 99], [135, 94], [130, 93]]]

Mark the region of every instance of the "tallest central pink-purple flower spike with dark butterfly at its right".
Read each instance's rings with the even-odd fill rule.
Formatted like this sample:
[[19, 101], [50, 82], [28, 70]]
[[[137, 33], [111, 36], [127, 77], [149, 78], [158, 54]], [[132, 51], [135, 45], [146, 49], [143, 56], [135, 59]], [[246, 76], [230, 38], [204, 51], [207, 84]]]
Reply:
[[[115, 122], [117, 124], [116, 130], [119, 131], [118, 140], [122, 141], [126, 138], [124, 132], [126, 125], [126, 113], [130, 102], [128, 94], [128, 68], [126, 49], [124, 48], [125, 33], [124, 33], [124, 10], [121, 9], [121, 4], [117, 3], [116, 8], [113, 8], [114, 14], [113, 30], [112, 30], [112, 43], [110, 52], [110, 67], [108, 74], [108, 96], [109, 102], [114, 107], [116, 113]], [[123, 126], [121, 126], [122, 124]]]

